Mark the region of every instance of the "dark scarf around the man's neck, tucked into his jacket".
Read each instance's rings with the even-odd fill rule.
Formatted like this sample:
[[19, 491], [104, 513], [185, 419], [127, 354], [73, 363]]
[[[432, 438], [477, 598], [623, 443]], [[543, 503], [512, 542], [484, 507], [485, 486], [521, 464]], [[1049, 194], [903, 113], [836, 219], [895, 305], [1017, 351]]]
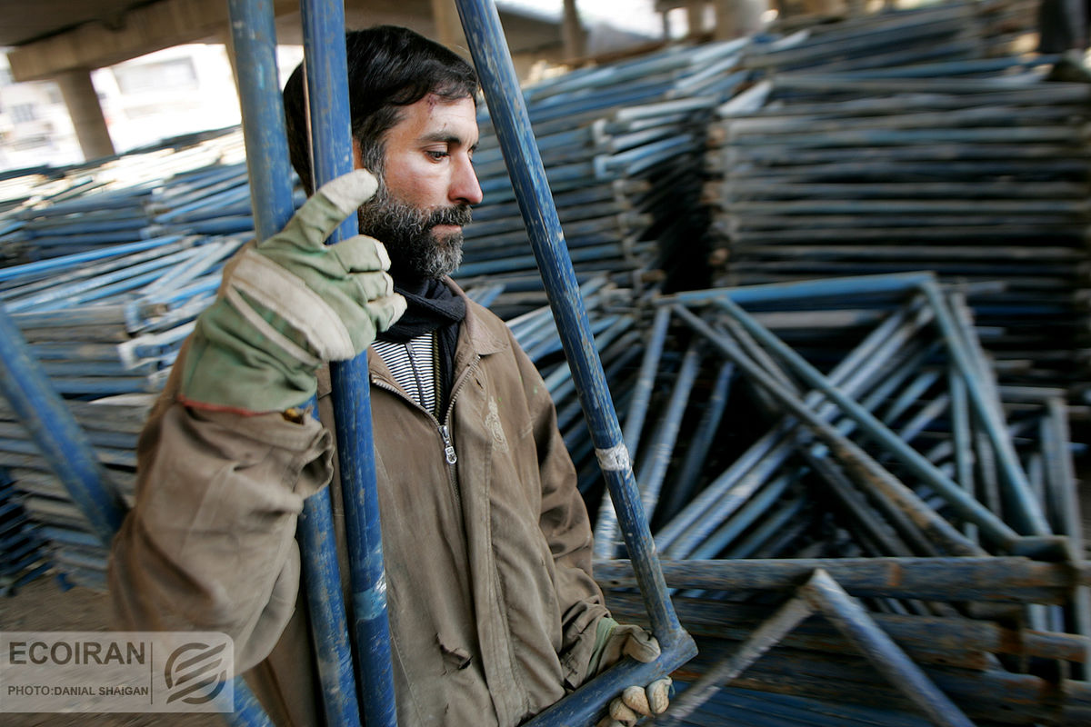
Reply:
[[406, 343], [435, 331], [440, 363], [436, 400], [440, 412], [445, 412], [451, 388], [455, 384], [455, 346], [458, 343], [458, 325], [466, 317], [466, 301], [445, 282], [434, 279], [395, 282], [394, 291], [405, 296], [408, 306], [397, 323], [379, 335], [379, 340]]

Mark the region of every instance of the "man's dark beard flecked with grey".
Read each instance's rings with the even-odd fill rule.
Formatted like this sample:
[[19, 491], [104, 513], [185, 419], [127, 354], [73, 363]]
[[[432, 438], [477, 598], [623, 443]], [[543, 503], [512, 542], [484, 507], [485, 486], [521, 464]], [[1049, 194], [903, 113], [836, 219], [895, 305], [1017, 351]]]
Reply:
[[375, 195], [360, 206], [357, 216], [360, 232], [386, 245], [395, 281], [440, 279], [463, 262], [463, 231], [436, 234], [434, 228], [469, 225], [469, 205], [415, 207], [395, 198], [380, 181]]

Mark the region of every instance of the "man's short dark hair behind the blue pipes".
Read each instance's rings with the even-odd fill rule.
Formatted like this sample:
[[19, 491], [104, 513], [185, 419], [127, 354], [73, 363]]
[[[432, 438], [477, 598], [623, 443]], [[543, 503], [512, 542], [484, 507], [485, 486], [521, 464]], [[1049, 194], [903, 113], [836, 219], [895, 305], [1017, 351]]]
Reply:
[[[364, 166], [382, 174], [383, 135], [399, 117], [399, 107], [429, 94], [447, 100], [473, 98], [478, 77], [473, 66], [437, 43], [409, 28], [380, 25], [345, 34], [349, 112], [352, 138], [360, 144]], [[308, 194], [311, 179], [303, 64], [284, 86], [288, 153]]]

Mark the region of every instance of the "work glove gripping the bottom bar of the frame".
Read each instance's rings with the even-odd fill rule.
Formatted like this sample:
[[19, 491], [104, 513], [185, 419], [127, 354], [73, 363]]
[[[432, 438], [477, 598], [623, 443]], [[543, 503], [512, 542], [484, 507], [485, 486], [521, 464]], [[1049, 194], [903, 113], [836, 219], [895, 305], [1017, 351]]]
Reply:
[[[632, 656], [644, 663], [659, 658], [659, 642], [638, 626], [622, 626], [606, 616], [599, 620], [596, 629], [595, 650], [591, 652], [588, 674], [599, 675], [623, 656]], [[657, 679], [647, 687], [627, 687], [621, 696], [610, 702], [608, 715], [597, 727], [633, 727], [640, 717], [662, 714], [670, 704], [670, 677]]]

